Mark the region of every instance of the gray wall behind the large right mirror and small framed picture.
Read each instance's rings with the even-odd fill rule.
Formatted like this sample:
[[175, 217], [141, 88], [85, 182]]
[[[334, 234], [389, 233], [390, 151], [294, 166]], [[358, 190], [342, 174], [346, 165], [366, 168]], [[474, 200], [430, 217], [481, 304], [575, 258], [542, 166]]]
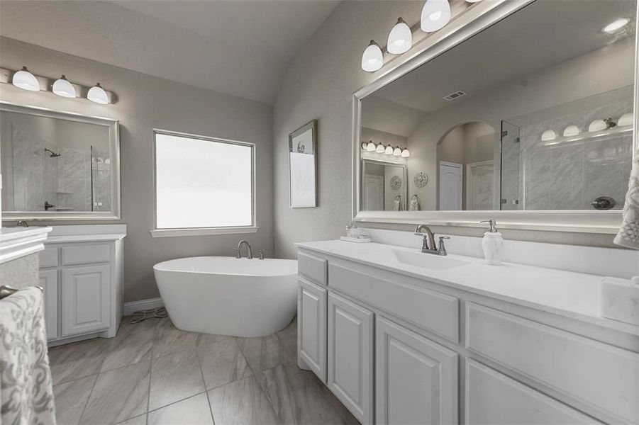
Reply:
[[[382, 74], [362, 71], [362, 51], [370, 39], [385, 44], [397, 16], [407, 19], [409, 25], [415, 23], [411, 18], [420, 16], [421, 6], [419, 1], [345, 1], [291, 60], [274, 103], [274, 244], [278, 256], [294, 258], [294, 242], [336, 239], [344, 233], [352, 202], [351, 96]], [[313, 118], [318, 119], [319, 204], [318, 208], [291, 209], [288, 135]], [[439, 227], [435, 231], [481, 236], [483, 229]], [[601, 234], [506, 231], [504, 237], [613, 246], [613, 236]]]

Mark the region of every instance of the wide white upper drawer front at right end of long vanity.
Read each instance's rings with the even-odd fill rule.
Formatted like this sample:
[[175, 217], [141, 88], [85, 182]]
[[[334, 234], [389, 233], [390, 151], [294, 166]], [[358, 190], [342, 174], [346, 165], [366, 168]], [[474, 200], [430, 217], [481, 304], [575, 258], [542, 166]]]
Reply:
[[639, 353], [472, 302], [466, 309], [469, 351], [618, 422], [639, 422]]

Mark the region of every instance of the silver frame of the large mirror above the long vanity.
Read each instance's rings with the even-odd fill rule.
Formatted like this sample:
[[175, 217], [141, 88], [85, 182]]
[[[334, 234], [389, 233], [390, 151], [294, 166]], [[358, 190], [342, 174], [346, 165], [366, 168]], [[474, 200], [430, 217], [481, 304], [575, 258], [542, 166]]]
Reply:
[[[383, 72], [377, 79], [352, 94], [352, 220], [356, 222], [393, 223], [417, 225], [427, 223], [440, 226], [484, 227], [479, 221], [496, 219], [504, 229], [530, 229], [556, 232], [577, 232], [596, 234], [616, 234], [621, 226], [621, 210], [530, 210], [530, 211], [362, 211], [360, 186], [360, 132], [362, 99], [382, 87], [391, 84], [413, 69], [426, 64], [435, 57], [452, 49], [510, 16], [535, 0], [495, 0], [480, 1], [469, 6], [457, 16], [448, 27], [432, 33], [418, 42], [413, 51], [399, 57], [401, 61]], [[638, 13], [635, 28], [639, 28]], [[634, 87], [634, 136], [633, 162], [637, 160], [639, 142], [639, 37], [635, 36], [635, 87]], [[395, 61], [394, 61], [395, 62]]]

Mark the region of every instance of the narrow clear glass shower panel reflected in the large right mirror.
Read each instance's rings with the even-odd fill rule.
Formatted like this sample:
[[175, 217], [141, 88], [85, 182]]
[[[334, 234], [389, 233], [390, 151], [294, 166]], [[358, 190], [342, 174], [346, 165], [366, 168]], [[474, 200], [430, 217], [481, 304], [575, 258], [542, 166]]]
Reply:
[[501, 121], [501, 210], [522, 210], [519, 147], [521, 131], [517, 125]]

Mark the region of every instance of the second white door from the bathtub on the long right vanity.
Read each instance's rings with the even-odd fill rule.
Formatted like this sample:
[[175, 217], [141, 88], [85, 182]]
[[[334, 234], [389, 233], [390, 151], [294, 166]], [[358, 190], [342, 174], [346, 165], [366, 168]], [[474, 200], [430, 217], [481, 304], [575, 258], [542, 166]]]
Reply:
[[372, 423], [373, 313], [328, 294], [328, 387], [363, 424]]

